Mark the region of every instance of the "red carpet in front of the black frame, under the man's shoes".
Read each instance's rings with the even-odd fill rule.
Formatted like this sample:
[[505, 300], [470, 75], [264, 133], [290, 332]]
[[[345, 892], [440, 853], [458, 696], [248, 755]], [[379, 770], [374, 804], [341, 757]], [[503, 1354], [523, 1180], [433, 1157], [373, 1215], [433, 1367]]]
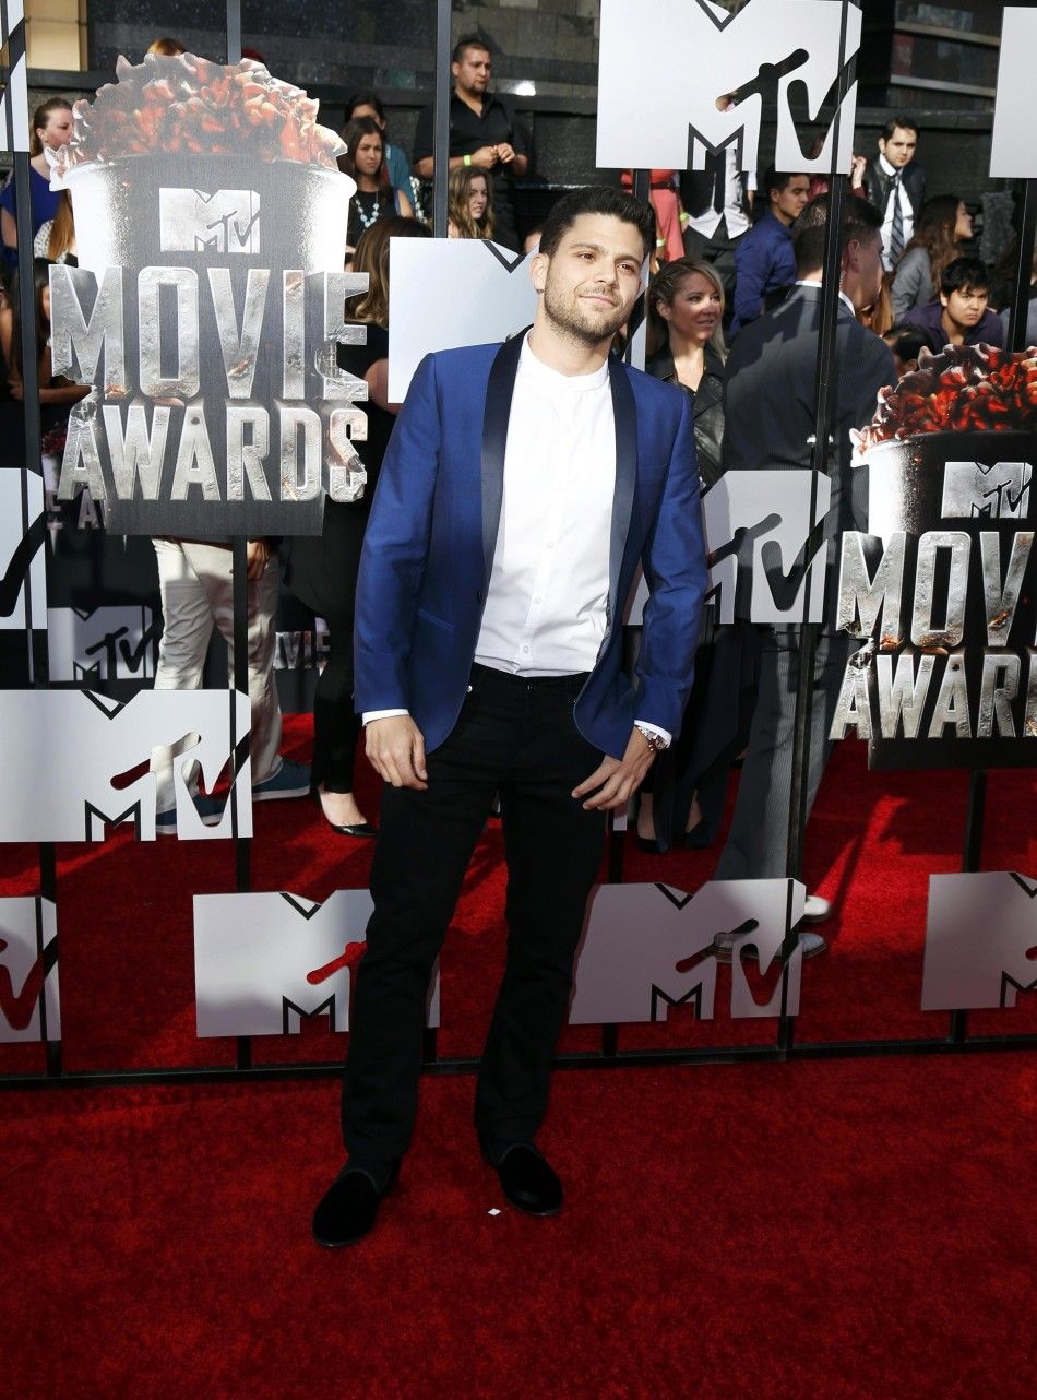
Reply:
[[568, 1201], [502, 1205], [430, 1078], [322, 1252], [336, 1086], [7, 1095], [11, 1400], [1029, 1400], [1027, 1054], [560, 1074]]

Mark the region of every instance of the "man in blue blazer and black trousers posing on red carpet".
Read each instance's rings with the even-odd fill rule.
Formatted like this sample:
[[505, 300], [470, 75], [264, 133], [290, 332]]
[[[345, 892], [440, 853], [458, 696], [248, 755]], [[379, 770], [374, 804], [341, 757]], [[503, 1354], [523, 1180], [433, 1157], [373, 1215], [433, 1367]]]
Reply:
[[[508, 960], [476, 1128], [514, 1205], [561, 1207], [533, 1140], [605, 812], [680, 725], [705, 588], [689, 402], [609, 356], [654, 241], [621, 190], [563, 196], [530, 259], [532, 330], [428, 356], [382, 465], [355, 697], [388, 787], [343, 1084], [350, 1156], [313, 1217], [323, 1245], [361, 1238], [396, 1180], [431, 970], [495, 792]], [[620, 619], [638, 560], [652, 595], [635, 693]]]

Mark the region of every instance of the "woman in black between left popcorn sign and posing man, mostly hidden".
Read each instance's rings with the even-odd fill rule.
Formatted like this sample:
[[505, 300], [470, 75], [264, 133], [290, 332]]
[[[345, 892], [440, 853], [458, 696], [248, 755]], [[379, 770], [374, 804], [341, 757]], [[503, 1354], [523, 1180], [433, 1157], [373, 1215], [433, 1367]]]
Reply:
[[367, 328], [362, 346], [339, 346], [339, 365], [368, 386], [367, 441], [360, 455], [367, 487], [358, 501], [325, 501], [323, 531], [288, 540], [285, 581], [327, 623], [327, 661], [313, 697], [311, 790], [325, 820], [341, 836], [374, 836], [353, 794], [360, 717], [353, 710], [353, 609], [364, 531], [399, 405], [388, 399], [389, 239], [428, 238], [414, 218], [383, 218], [357, 242], [354, 272], [368, 274], [368, 290], [350, 298], [346, 319]]

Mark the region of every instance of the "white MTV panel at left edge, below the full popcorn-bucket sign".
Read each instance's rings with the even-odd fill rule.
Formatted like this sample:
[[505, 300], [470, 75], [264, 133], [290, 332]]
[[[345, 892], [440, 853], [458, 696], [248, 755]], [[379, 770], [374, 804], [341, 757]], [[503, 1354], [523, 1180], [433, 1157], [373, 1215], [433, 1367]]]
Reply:
[[249, 731], [248, 696], [237, 690], [140, 690], [116, 701], [90, 690], [0, 690], [0, 841], [95, 841], [105, 823], [133, 822], [155, 839], [151, 750], [174, 762], [176, 834], [217, 840], [252, 834], [248, 763], [234, 778], [217, 826], [204, 826], [188, 790], [193, 764], [206, 788], [238, 763]]

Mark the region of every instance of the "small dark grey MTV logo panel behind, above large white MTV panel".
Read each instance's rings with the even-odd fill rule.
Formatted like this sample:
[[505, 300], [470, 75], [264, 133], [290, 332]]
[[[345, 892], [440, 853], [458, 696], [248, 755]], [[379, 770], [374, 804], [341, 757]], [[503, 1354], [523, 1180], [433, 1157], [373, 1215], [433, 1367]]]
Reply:
[[50, 608], [52, 680], [151, 680], [162, 626], [150, 608]]

